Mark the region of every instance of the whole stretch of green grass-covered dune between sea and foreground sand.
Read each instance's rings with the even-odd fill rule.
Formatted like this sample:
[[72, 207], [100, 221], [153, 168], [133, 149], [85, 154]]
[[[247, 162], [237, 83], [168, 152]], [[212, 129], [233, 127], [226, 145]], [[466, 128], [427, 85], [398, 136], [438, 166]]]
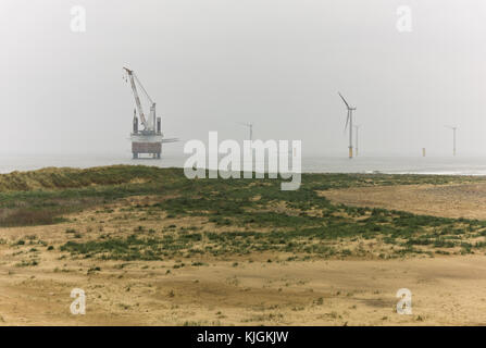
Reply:
[[[46, 169], [0, 176], [0, 226], [66, 223], [70, 214], [99, 208], [113, 220], [129, 221], [136, 226], [128, 235], [70, 240], [61, 250], [116, 260], [259, 252], [281, 252], [288, 254], [289, 260], [470, 253], [486, 246], [486, 222], [335, 204], [320, 192], [482, 181], [457, 176], [307, 174], [299, 190], [282, 191], [276, 179], [190, 181], [178, 169]], [[150, 197], [150, 202], [110, 208], [127, 197]], [[177, 220], [183, 217], [187, 222], [178, 226]], [[175, 223], [157, 227], [169, 220]]]

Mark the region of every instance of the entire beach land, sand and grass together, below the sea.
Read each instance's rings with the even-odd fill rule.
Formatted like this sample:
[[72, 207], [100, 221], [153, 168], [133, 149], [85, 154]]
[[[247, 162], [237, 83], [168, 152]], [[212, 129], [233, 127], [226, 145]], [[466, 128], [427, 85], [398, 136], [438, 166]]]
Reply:
[[[308, 175], [286, 200], [271, 181], [178, 174], [2, 175], [0, 323], [486, 323], [482, 178]], [[73, 288], [86, 294], [84, 315], [70, 311]], [[412, 314], [397, 313], [400, 288]]]

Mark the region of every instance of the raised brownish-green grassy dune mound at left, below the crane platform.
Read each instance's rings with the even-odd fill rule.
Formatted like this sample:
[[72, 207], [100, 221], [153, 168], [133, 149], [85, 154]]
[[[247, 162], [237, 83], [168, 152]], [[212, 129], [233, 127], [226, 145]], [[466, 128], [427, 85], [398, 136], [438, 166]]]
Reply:
[[109, 166], [43, 169], [0, 175], [0, 226], [62, 222], [63, 215], [130, 195], [157, 192], [171, 184], [173, 170]]

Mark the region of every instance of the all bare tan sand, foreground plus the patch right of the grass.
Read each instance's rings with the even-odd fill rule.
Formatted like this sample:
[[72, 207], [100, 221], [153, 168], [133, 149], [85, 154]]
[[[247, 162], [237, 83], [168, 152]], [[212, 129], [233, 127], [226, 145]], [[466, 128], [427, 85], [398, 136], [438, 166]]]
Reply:
[[[390, 186], [325, 191], [334, 201], [440, 216], [486, 217], [485, 185]], [[453, 200], [451, 197], [454, 197]], [[145, 198], [130, 198], [122, 204]], [[92, 217], [97, 216], [96, 222]], [[73, 224], [95, 238], [126, 222], [86, 211]], [[116, 214], [114, 215], [116, 216]], [[73, 216], [72, 216], [73, 217]], [[185, 217], [186, 219], [186, 217]], [[187, 217], [191, 219], [191, 217]], [[139, 222], [134, 221], [134, 224]], [[173, 223], [167, 221], [165, 223]], [[184, 224], [184, 219], [177, 222]], [[194, 221], [192, 221], [194, 223]], [[94, 226], [86, 232], [86, 226]], [[249, 254], [174, 269], [177, 260], [73, 259], [59, 246], [68, 224], [0, 228], [2, 325], [477, 325], [486, 323], [486, 256], [395, 260], [284, 261]], [[130, 227], [132, 228], [132, 227]], [[132, 229], [130, 229], [132, 231]], [[55, 250], [14, 246], [36, 236]], [[36, 239], [36, 240], [37, 240]], [[34, 246], [35, 247], [35, 246]], [[23, 261], [39, 260], [23, 266]], [[266, 262], [272, 259], [273, 262]], [[100, 271], [89, 271], [99, 266]], [[87, 296], [73, 315], [73, 288]], [[412, 291], [411, 315], [396, 311], [396, 293]]]

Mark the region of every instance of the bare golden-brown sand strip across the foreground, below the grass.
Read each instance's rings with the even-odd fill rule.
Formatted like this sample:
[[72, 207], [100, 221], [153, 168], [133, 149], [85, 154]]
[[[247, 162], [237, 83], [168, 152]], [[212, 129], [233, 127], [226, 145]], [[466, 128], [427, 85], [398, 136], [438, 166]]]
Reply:
[[[213, 262], [172, 270], [162, 262], [117, 269], [103, 262], [0, 266], [4, 325], [425, 325], [486, 323], [486, 257], [392, 261]], [[148, 268], [147, 268], [148, 266]], [[86, 291], [85, 315], [70, 313], [72, 288]], [[411, 315], [396, 312], [399, 288]]]

